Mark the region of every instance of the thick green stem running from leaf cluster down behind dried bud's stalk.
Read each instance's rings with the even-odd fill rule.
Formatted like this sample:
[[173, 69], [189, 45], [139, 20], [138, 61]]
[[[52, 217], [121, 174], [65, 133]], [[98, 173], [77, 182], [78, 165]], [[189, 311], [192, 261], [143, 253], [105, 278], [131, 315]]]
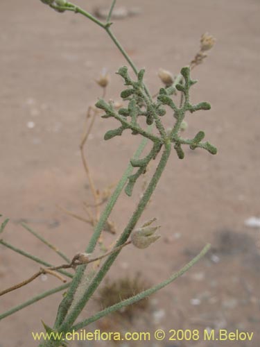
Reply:
[[[137, 205], [135, 212], [132, 214], [132, 217], [130, 218], [128, 225], [125, 227], [125, 230], [123, 230], [118, 242], [116, 242], [115, 247], [118, 247], [118, 246], [121, 246], [121, 244], [124, 244], [127, 241], [132, 230], [135, 228], [137, 221], [141, 217], [141, 214], [144, 212], [144, 209], [146, 208], [148, 201], [150, 201], [150, 197], [152, 196], [155, 190], [155, 187], [159, 181], [159, 178], [162, 176], [162, 172], [164, 171], [164, 168], [166, 167], [166, 163], [168, 161], [170, 154], [171, 154], [171, 142], [167, 142], [165, 144], [165, 149], [164, 149], [164, 153], [162, 154], [162, 158], [159, 161], [157, 169], [155, 170], [155, 174], [150, 180], [150, 183], [148, 187], [146, 188], [146, 192], [144, 192], [144, 195], [139, 201], [139, 204]], [[89, 287], [87, 287], [87, 289], [81, 295], [75, 307], [73, 307], [73, 310], [71, 310], [71, 312], [68, 314], [68, 316], [64, 320], [64, 323], [62, 323], [62, 325], [60, 326], [59, 328], [60, 331], [63, 331], [63, 332], [68, 331], [71, 325], [74, 323], [74, 321], [76, 321], [78, 315], [85, 307], [87, 301], [92, 296], [92, 294], [98, 287], [101, 280], [103, 280], [105, 274], [110, 269], [110, 266], [116, 259], [117, 255], [119, 255], [119, 252], [120, 251], [112, 253], [112, 255], [110, 255], [110, 257], [108, 257], [107, 260], [105, 260], [103, 266], [101, 266], [101, 269], [98, 271], [98, 273], [92, 280]]]

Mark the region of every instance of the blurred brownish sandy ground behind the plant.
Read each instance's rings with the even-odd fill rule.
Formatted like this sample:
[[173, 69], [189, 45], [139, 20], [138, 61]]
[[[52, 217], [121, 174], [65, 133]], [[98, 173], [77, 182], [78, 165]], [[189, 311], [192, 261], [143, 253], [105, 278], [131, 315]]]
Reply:
[[[107, 2], [78, 1], [89, 11]], [[186, 276], [155, 294], [150, 311], [138, 314], [128, 330], [239, 329], [254, 332], [253, 340], [165, 339], [147, 346], [257, 347], [259, 229], [245, 226], [244, 221], [260, 214], [260, 2], [118, 3], [141, 10], [135, 17], [115, 21], [113, 30], [137, 66], [146, 68], [152, 92], [160, 85], [159, 67], [177, 74], [198, 51], [202, 33], [208, 31], [217, 39], [207, 61], [193, 71], [199, 83], [193, 88], [192, 100], [209, 101], [212, 109], [188, 116], [187, 137], [205, 130], [207, 139], [218, 147], [218, 155], [186, 149], [181, 161], [173, 153], [143, 218], [159, 219], [162, 238], [147, 251], [125, 249], [109, 276], [132, 276], [140, 271], [154, 285], [190, 260], [206, 242], [211, 242], [212, 251]], [[94, 79], [103, 67], [112, 75], [107, 97], [119, 100], [121, 80], [114, 72], [125, 61], [101, 28], [80, 15], [60, 15], [37, 0], [2, 0], [0, 25], [0, 212], [11, 219], [3, 239], [60, 264], [57, 255], [21, 228], [20, 222], [26, 221], [69, 257], [85, 248], [92, 228], [67, 216], [57, 205], [86, 217], [83, 201], [91, 203], [92, 197], [78, 148], [86, 110], [101, 96]], [[170, 119], [166, 122], [171, 124]], [[100, 189], [119, 180], [139, 144], [139, 138], [128, 134], [104, 142], [103, 135], [110, 128], [110, 119], [98, 119], [88, 143], [89, 164]], [[138, 196], [136, 188], [132, 198], [120, 198], [112, 214], [118, 230], [125, 226]], [[105, 234], [107, 245], [114, 239]], [[28, 278], [38, 268], [1, 246], [1, 289]], [[3, 296], [1, 312], [59, 284], [53, 278], [38, 278]], [[37, 346], [31, 332], [42, 331], [41, 319], [53, 323], [60, 299], [61, 294], [55, 294], [1, 321], [0, 346]], [[85, 309], [83, 316], [88, 314]]]

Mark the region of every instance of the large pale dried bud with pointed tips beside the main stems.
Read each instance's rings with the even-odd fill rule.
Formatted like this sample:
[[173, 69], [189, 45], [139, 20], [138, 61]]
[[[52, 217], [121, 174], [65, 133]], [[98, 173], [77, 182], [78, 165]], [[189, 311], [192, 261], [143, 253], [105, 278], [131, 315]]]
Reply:
[[150, 224], [155, 220], [156, 219], [151, 219], [150, 221], [144, 223], [141, 228], [132, 232], [131, 241], [134, 246], [137, 248], [146, 248], [161, 237], [160, 235], [154, 235], [160, 226], [150, 226]]

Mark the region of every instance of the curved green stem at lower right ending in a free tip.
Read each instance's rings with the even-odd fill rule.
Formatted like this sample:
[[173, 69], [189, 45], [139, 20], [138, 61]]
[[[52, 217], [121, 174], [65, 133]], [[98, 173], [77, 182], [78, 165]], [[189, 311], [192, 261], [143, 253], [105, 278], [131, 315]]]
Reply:
[[81, 328], [84, 328], [86, 325], [89, 325], [90, 323], [93, 323], [94, 321], [97, 321], [98, 319], [101, 319], [103, 316], [107, 316], [107, 314], [110, 314], [112, 312], [121, 310], [123, 307], [132, 305], [133, 303], [136, 303], [137, 301], [146, 298], [147, 296], [150, 296], [151, 294], [154, 294], [155, 291], [158, 291], [159, 289], [162, 289], [166, 287], [166, 285], [169, 285], [171, 282], [182, 276], [185, 272], [187, 272], [193, 265], [195, 265], [206, 253], [209, 251], [210, 244], [207, 244], [202, 251], [196, 255], [196, 257], [191, 260], [188, 264], [182, 267], [180, 271], [177, 271], [176, 273], [173, 273], [171, 277], [168, 278], [168, 280], [165, 280], [164, 282], [159, 283], [159, 285], [155, 285], [154, 287], [151, 287], [145, 291], [142, 291], [141, 293], [132, 296], [132, 298], [128, 298], [126, 300], [121, 301], [120, 303], [116, 303], [115, 305], [112, 305], [110, 307], [107, 307], [105, 310], [102, 310], [96, 314], [94, 314], [92, 317], [89, 317], [88, 319], [85, 319], [85, 321], [82, 321], [76, 325], [73, 325], [71, 328], [71, 331], [76, 331]]

